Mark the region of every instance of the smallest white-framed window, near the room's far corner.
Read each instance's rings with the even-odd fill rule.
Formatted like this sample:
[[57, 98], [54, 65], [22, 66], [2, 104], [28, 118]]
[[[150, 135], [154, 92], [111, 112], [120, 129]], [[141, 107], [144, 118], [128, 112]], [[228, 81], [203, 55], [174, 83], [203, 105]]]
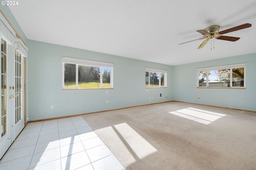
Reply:
[[167, 87], [167, 71], [160, 69], [145, 69], [146, 87]]

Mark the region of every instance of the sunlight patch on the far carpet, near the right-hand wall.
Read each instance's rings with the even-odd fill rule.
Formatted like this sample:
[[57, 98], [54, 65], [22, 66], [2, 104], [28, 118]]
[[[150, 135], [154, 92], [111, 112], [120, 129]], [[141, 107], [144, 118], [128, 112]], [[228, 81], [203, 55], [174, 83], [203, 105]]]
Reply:
[[205, 125], [209, 125], [210, 123], [220, 119], [221, 117], [226, 116], [221, 113], [215, 113], [215, 112], [205, 111], [205, 110], [201, 110], [201, 109], [195, 109], [192, 107], [188, 107], [186, 109], [180, 109], [177, 111], [172, 111], [169, 113], [172, 113], [173, 115], [177, 115], [180, 117], [184, 117], [186, 119], [190, 119], [192, 121], [203, 123]]

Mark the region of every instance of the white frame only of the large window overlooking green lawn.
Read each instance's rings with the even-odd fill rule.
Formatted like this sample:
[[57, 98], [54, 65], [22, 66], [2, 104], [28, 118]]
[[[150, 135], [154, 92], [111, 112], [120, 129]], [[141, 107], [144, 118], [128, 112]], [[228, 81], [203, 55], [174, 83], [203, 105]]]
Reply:
[[[62, 57], [62, 89], [113, 89], [113, 63], [106, 63], [101, 61], [92, 61], [86, 59], [78, 59], [71, 57]], [[76, 65], [76, 87], [65, 87], [64, 86], [64, 70], [65, 63]], [[100, 67], [100, 88], [78, 88], [78, 65]], [[102, 87], [102, 67], [110, 67], [110, 87]]]

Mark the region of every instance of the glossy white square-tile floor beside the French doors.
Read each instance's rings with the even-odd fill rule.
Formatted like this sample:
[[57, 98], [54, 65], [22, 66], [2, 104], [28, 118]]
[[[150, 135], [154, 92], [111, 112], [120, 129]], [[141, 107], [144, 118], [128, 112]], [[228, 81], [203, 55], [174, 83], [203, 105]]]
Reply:
[[80, 116], [28, 124], [0, 162], [0, 170], [75, 169], [124, 170]]

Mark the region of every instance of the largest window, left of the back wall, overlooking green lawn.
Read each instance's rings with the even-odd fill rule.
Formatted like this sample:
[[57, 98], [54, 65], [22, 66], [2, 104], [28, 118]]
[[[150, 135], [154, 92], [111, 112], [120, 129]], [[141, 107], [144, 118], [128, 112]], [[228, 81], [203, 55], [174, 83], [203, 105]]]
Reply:
[[113, 88], [113, 63], [62, 57], [62, 88]]

